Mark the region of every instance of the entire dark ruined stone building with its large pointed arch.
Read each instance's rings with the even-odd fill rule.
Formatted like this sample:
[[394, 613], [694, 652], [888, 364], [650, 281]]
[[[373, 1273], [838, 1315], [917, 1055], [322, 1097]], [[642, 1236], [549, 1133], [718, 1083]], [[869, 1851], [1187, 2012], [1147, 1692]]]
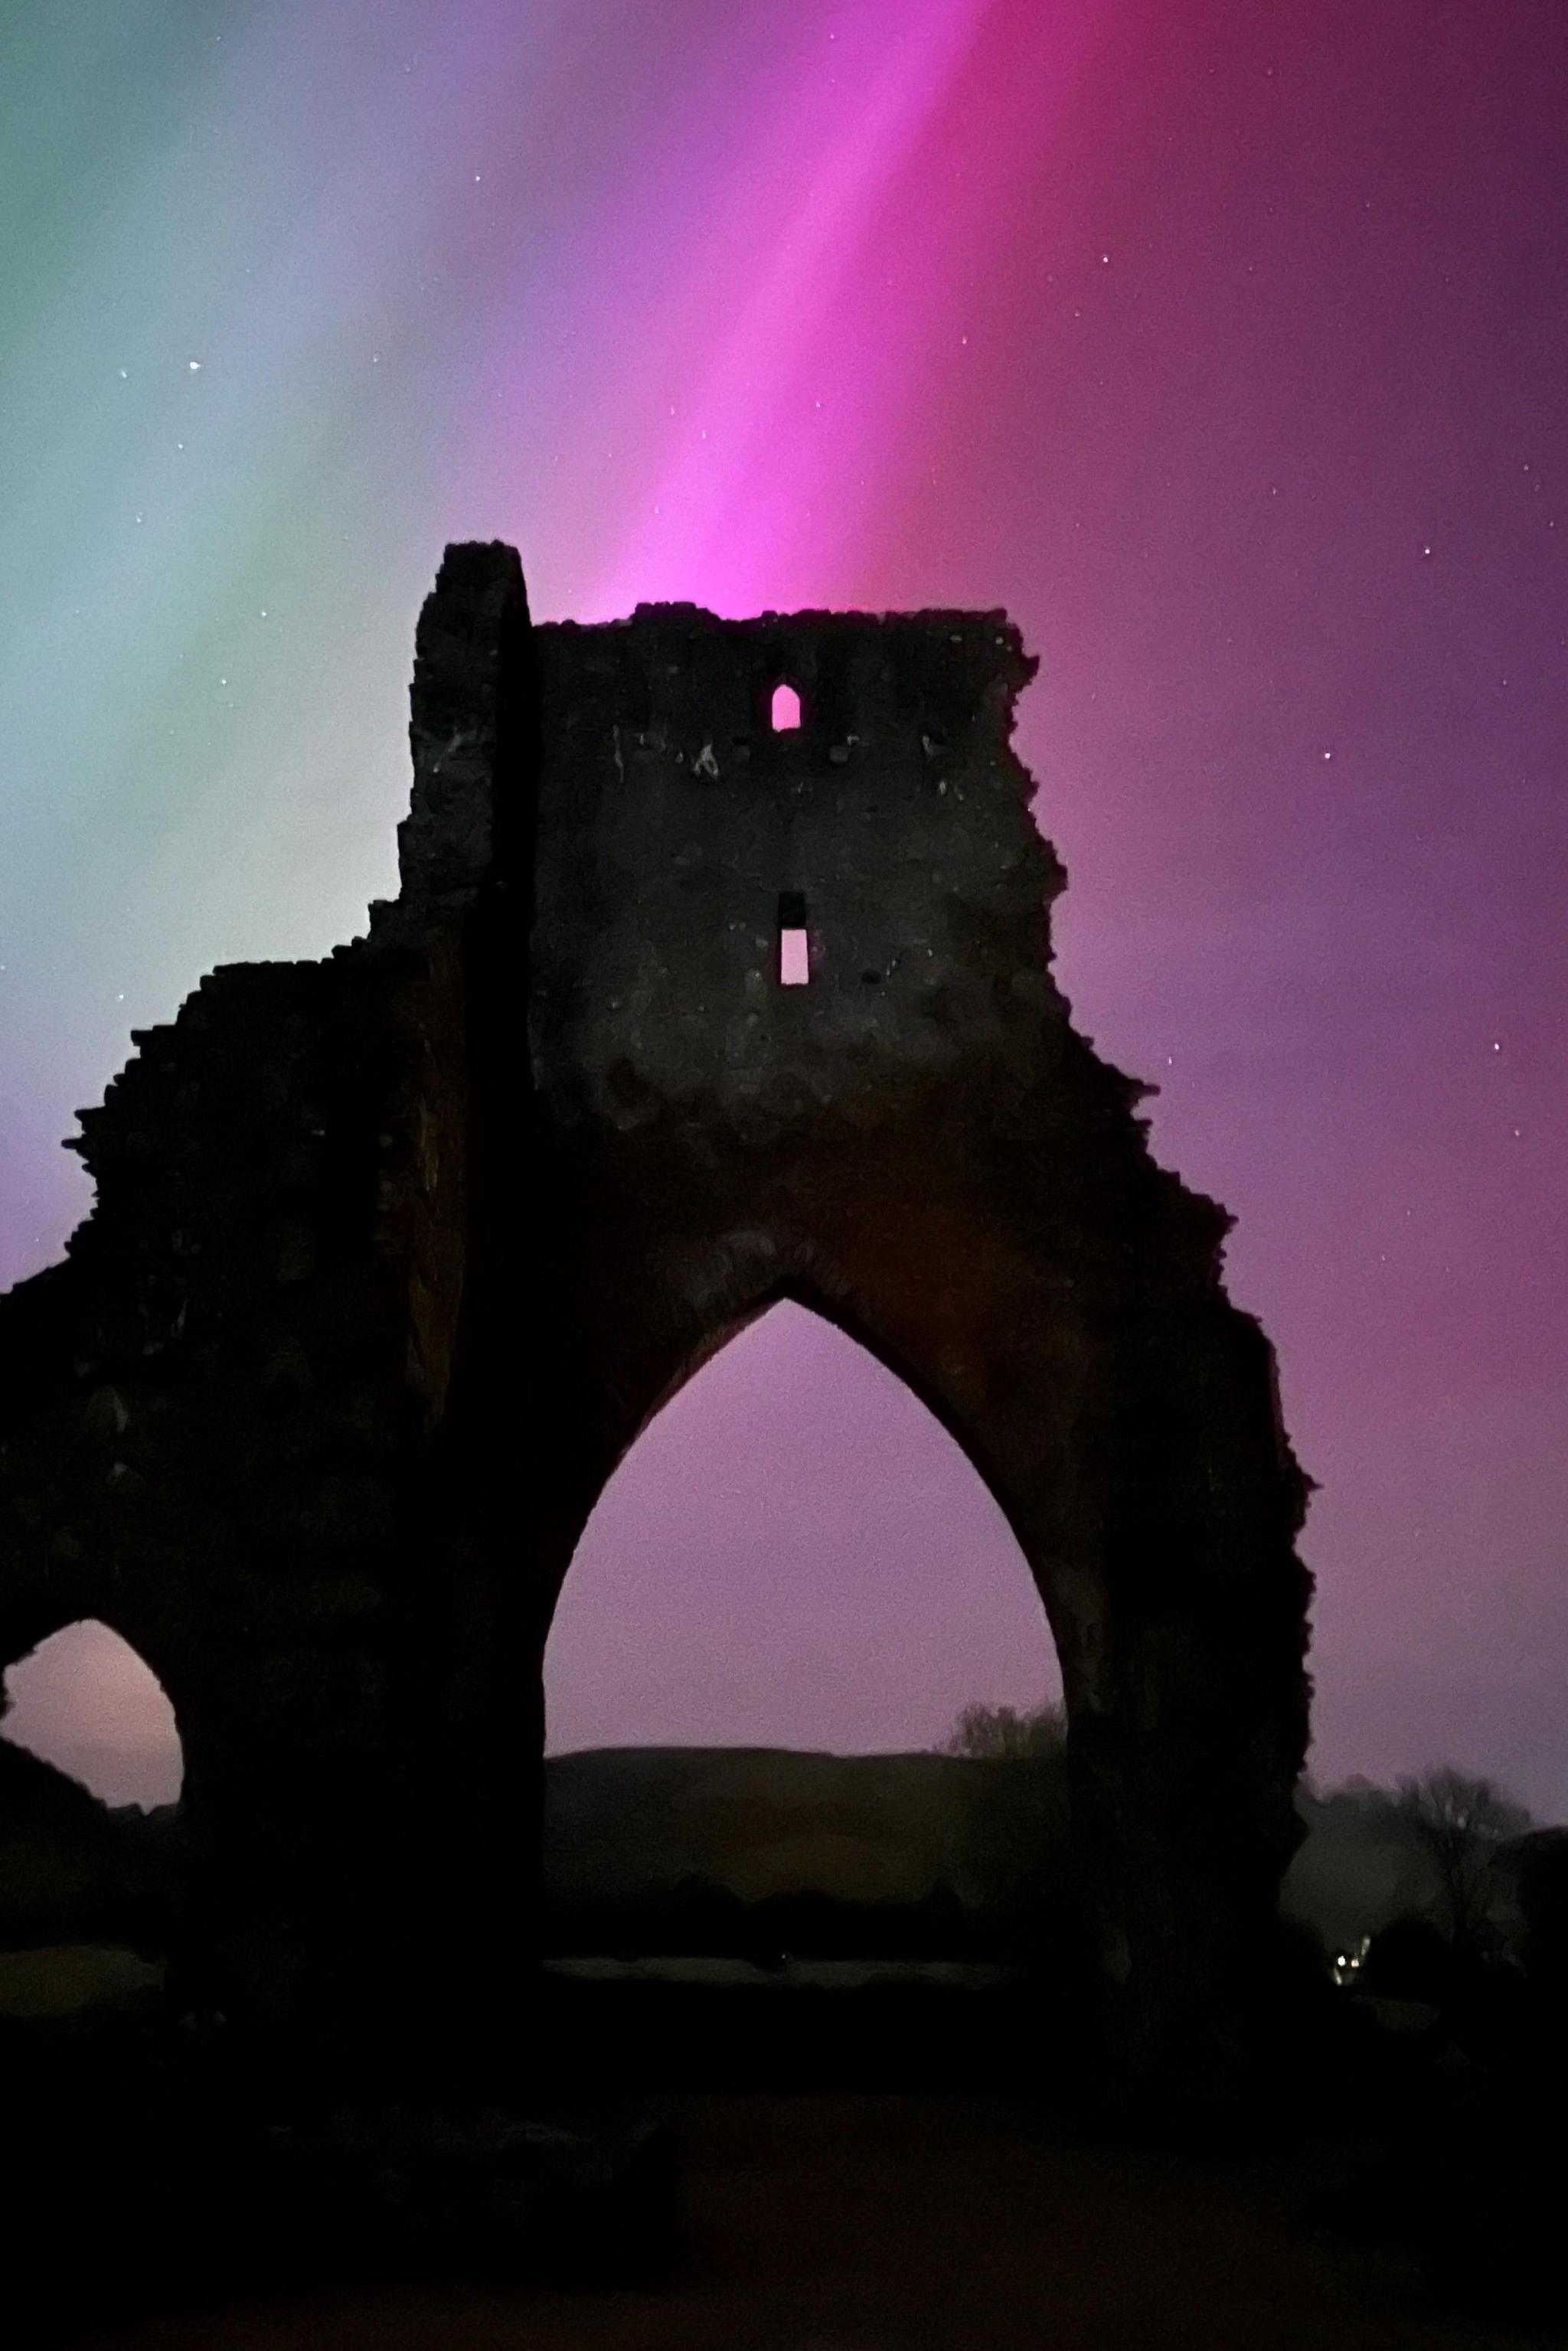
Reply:
[[158, 1672], [176, 1958], [268, 2045], [527, 2062], [557, 1592], [651, 1413], [795, 1298], [1037, 1578], [1107, 2095], [1246, 2048], [1307, 1481], [1225, 1211], [1051, 978], [1032, 670], [1001, 614], [531, 625], [510, 548], [449, 548], [397, 900], [212, 973], [82, 1114], [94, 1213], [0, 1300], [0, 1665], [94, 1615]]

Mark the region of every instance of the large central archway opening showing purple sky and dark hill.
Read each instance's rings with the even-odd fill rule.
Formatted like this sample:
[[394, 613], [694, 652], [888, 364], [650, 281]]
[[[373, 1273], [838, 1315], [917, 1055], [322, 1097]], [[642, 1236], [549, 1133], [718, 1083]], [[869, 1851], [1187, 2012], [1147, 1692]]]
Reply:
[[[1018, 1538], [903, 1380], [778, 1305], [649, 1422], [567, 1575], [545, 1650], [552, 1965], [1018, 1958], [980, 1801], [1006, 1766], [945, 1751], [976, 1707], [1060, 1721]], [[1034, 1761], [1030, 1787], [1044, 1773], [1065, 1806], [1060, 1740]], [[1056, 1827], [1065, 1867], [1065, 1808]]]

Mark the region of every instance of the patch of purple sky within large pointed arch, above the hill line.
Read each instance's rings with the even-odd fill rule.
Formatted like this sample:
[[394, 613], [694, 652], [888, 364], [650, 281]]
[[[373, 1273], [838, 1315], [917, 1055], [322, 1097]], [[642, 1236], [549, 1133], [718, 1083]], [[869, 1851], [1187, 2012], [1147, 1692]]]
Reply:
[[[917, 1688], [936, 1625], [950, 1662]], [[858, 1686], [835, 1655], [860, 1660]], [[973, 1700], [1037, 1704], [1058, 1681], [1039, 1589], [964, 1446], [839, 1321], [773, 1295], [686, 1361], [607, 1479], [550, 1622], [548, 1744], [919, 1749]]]

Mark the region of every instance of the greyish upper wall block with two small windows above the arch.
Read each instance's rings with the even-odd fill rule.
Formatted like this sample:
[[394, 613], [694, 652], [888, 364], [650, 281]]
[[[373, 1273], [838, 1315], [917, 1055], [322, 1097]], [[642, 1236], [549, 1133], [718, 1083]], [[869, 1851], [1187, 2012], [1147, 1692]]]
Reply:
[[[792, 614], [541, 628], [534, 1051], [555, 1117], [1037, 1077], [1060, 868], [1027, 818], [1001, 614]], [[802, 726], [773, 731], [773, 684]], [[778, 985], [780, 898], [811, 978]]]

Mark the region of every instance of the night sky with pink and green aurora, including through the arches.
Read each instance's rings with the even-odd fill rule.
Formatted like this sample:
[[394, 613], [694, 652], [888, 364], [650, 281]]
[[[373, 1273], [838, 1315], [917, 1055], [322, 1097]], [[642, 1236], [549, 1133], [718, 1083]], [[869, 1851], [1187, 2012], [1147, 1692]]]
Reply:
[[[1568, 1817], [1563, 125], [1559, 0], [9, 9], [0, 1281], [132, 1025], [393, 891], [447, 538], [541, 616], [1006, 604], [1058, 976], [1321, 1481], [1314, 1770]], [[87, 1662], [35, 1733], [158, 1791]], [[552, 1742], [1051, 1683], [973, 1469], [780, 1310], [607, 1493]]]

